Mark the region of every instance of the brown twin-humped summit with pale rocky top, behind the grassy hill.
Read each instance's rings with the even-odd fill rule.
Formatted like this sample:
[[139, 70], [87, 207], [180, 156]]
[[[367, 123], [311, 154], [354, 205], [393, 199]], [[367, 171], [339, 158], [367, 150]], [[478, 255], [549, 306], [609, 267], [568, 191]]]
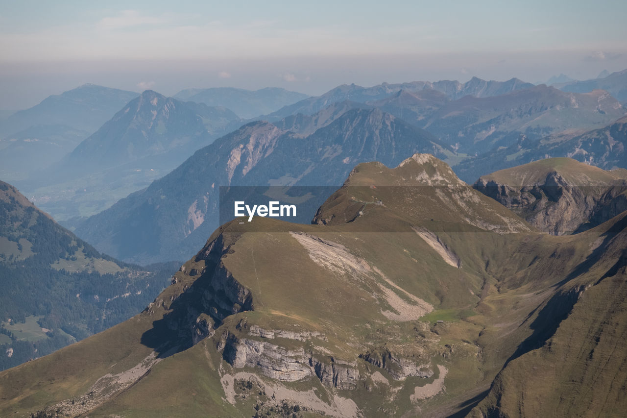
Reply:
[[[522, 219], [461, 181], [448, 164], [428, 153], [416, 153], [395, 168], [379, 162], [358, 164], [342, 188], [316, 213], [314, 223], [355, 222], [368, 228], [362, 203], [375, 203], [369, 212], [399, 217], [413, 226], [480, 228], [498, 233], [529, 232]], [[387, 214], [383, 214], [383, 212]], [[391, 215], [393, 213], [394, 215]]]

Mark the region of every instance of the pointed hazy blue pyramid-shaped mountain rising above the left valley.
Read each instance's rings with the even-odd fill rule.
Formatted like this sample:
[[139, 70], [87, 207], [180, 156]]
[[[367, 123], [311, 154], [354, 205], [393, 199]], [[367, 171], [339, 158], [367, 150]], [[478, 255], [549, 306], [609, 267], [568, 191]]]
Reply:
[[240, 124], [224, 107], [146, 90], [61, 161], [16, 184], [57, 220], [87, 217], [145, 188]]

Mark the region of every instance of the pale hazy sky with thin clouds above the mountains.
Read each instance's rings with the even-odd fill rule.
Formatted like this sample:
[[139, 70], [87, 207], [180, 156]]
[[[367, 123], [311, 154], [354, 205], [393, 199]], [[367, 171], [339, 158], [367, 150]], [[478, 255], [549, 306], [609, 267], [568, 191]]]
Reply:
[[544, 82], [627, 68], [627, 2], [0, 0], [0, 109], [83, 83], [183, 88]]

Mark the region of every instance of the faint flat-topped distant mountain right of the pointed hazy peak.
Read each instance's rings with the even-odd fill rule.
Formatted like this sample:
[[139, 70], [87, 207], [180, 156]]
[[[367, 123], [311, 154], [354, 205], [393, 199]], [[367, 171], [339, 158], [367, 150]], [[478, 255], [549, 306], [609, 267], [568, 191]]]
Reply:
[[269, 114], [307, 97], [306, 94], [278, 87], [266, 87], [256, 91], [233, 87], [188, 88], [174, 95], [174, 99], [184, 102], [228, 107], [245, 119]]

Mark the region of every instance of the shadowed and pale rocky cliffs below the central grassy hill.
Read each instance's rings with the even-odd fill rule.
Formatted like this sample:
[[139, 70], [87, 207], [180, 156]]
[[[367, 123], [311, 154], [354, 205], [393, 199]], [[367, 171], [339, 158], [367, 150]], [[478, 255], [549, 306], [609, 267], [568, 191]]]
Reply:
[[[365, 346], [365, 353], [347, 355], [325, 348], [329, 340], [320, 331], [272, 329], [256, 324], [245, 315], [255, 311], [253, 291], [238, 281], [224, 263], [233, 254], [238, 239], [227, 234], [210, 240], [172, 278], [172, 294], [157, 298], [144, 311], [145, 315], [166, 311], [155, 329], [169, 338], [155, 344], [157, 351], [178, 352], [209, 338], [213, 350], [234, 371], [252, 368], [278, 382], [317, 378], [325, 387], [339, 390], [356, 390], [359, 382], [376, 370], [399, 382], [408, 377], [433, 376], [428, 356], [416, 359], [387, 348], [366, 350]], [[360, 372], [359, 361], [372, 365], [372, 370]]]

